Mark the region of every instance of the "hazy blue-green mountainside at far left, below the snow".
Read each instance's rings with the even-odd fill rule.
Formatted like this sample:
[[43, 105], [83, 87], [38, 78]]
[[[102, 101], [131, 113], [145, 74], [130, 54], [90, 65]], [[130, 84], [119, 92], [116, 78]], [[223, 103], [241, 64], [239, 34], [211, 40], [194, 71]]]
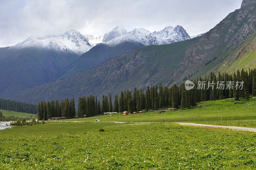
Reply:
[[10, 96], [36, 85], [54, 81], [60, 70], [78, 58], [37, 48], [0, 48], [0, 97]]

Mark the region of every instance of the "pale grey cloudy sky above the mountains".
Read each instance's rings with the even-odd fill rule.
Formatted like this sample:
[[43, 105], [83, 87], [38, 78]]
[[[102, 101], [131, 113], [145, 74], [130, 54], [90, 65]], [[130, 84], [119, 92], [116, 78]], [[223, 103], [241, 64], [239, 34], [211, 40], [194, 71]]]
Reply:
[[29, 36], [60, 35], [70, 29], [104, 35], [117, 25], [151, 32], [181, 25], [189, 35], [208, 31], [242, 0], [0, 0], [0, 47]]

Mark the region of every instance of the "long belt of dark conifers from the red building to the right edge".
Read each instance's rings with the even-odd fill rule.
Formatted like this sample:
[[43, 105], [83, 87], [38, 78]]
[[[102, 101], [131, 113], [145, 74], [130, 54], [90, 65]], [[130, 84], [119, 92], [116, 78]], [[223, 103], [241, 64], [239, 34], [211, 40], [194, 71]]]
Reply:
[[[236, 81], [244, 82], [243, 89], [235, 88]], [[184, 83], [180, 83], [179, 85], [173, 84], [171, 87], [152, 86], [147, 87], [146, 89], [137, 89], [135, 87], [133, 92], [126, 90], [121, 91], [120, 96], [116, 94], [113, 102], [111, 94], [108, 94], [108, 96], [103, 95], [101, 102], [93, 95], [79, 97], [77, 115], [79, 117], [83, 117], [84, 115], [90, 117], [103, 114], [104, 112], [139, 112], [141, 110], [158, 110], [166, 107], [184, 109], [196, 106], [196, 103], [200, 101], [232, 97], [235, 97], [236, 100], [239, 100], [239, 98], [248, 100], [249, 94], [256, 96], [256, 69], [250, 69], [249, 71], [244, 71], [244, 69], [241, 71], [237, 70], [236, 73], [232, 74], [218, 73], [216, 75], [210, 73], [208, 76], [205, 76], [205, 78], [200, 77], [193, 82], [195, 86], [200, 84], [200, 82], [204, 82], [205, 88], [200, 89], [194, 87], [193, 89], [186, 90]], [[215, 84], [212, 84], [212, 82], [215, 82]], [[219, 88], [217, 82], [223, 82], [224, 84], [233, 82], [233, 84], [229, 85], [230, 88]], [[68, 99], [61, 102], [60, 109], [58, 109], [59, 106], [57, 100], [56, 102], [48, 102], [48, 104], [41, 101], [38, 103], [37, 108], [40, 111], [40, 114], [42, 114], [41, 112], [44, 112], [42, 114], [44, 116], [39, 116], [39, 119], [50, 118], [51, 116], [54, 117], [53, 115], [66, 115], [68, 118], [74, 117], [76, 112], [75, 104], [74, 99], [71, 100], [72, 102], [70, 103], [72, 103], [73, 109], [68, 107], [68, 105], [70, 105], [68, 104]], [[56, 109], [54, 106], [55, 103], [57, 103]], [[48, 113], [50, 110], [52, 110], [51, 113]], [[49, 116], [47, 116], [47, 113]]]

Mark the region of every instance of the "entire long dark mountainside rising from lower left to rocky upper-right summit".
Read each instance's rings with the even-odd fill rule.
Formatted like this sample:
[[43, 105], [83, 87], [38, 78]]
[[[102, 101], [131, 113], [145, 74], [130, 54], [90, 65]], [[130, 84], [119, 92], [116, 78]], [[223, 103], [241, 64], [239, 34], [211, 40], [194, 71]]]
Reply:
[[134, 86], [170, 86], [191, 74], [194, 74], [192, 79], [217, 71], [243, 43], [250, 41], [255, 31], [256, 2], [244, 0], [240, 9], [231, 12], [201, 37], [132, 50], [71, 78], [28, 89], [12, 98], [36, 103], [38, 100], [119, 93]]

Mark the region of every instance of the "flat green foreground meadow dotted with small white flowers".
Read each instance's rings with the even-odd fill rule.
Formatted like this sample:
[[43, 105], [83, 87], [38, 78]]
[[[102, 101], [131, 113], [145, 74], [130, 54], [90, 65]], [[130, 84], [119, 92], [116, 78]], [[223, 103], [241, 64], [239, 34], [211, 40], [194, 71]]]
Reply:
[[0, 169], [255, 169], [255, 137], [173, 123], [48, 122], [1, 130]]

